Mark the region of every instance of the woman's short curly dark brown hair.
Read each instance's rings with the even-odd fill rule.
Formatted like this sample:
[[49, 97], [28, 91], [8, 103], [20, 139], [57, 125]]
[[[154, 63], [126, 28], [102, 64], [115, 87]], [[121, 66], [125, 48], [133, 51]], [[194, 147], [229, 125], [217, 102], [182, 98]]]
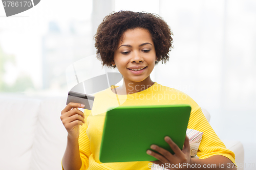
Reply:
[[126, 30], [142, 28], [151, 33], [155, 50], [157, 64], [159, 61], [166, 63], [169, 60], [168, 53], [172, 50], [172, 31], [167, 23], [156, 14], [146, 12], [119, 11], [105, 16], [100, 23], [94, 36], [97, 53], [100, 54], [102, 65], [112, 66], [114, 51], [120, 37]]

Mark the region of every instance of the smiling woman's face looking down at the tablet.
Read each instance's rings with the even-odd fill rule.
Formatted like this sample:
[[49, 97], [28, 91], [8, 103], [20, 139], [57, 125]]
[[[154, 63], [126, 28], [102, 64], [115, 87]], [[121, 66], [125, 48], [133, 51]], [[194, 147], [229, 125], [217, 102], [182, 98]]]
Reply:
[[[150, 76], [156, 60], [155, 46], [150, 32], [136, 28], [125, 31], [121, 36], [112, 64], [116, 65], [124, 79], [141, 82]], [[141, 68], [144, 69], [134, 70]]]

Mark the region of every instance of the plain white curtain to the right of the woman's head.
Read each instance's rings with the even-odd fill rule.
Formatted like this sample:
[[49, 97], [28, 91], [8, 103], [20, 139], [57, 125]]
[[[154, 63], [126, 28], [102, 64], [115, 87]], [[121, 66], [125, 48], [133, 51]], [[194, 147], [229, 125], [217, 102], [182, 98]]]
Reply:
[[156, 81], [207, 109], [217, 135], [242, 141], [245, 162], [256, 163], [256, 1], [160, 0], [159, 14], [174, 49]]

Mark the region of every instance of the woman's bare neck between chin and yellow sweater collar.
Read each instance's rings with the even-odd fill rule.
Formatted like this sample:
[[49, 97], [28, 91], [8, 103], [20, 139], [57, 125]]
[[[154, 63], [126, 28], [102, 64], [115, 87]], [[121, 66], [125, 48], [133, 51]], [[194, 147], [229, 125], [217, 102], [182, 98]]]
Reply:
[[122, 94], [132, 94], [143, 91], [151, 87], [153, 84], [154, 82], [151, 80], [150, 76], [141, 82], [133, 82], [123, 78], [123, 85], [119, 87], [119, 92]]

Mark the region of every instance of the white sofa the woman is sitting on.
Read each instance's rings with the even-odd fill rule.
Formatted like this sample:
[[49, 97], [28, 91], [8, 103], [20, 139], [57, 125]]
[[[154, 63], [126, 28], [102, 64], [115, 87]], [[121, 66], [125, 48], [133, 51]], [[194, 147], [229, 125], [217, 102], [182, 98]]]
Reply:
[[[66, 97], [0, 95], [0, 169], [61, 169], [67, 131], [60, 120], [60, 112], [66, 100]], [[209, 113], [203, 112], [209, 121]], [[223, 142], [236, 154], [236, 161], [243, 163], [242, 143]]]

